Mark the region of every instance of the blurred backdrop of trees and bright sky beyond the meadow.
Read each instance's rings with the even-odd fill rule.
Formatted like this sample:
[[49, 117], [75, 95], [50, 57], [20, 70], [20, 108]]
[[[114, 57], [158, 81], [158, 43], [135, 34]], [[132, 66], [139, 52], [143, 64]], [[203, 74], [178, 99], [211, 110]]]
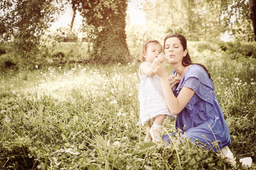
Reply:
[[254, 41], [254, 4], [248, 0], [4, 0], [0, 64], [3, 68], [123, 64], [138, 60], [142, 42], [162, 43], [170, 33], [228, 50], [235, 42]]

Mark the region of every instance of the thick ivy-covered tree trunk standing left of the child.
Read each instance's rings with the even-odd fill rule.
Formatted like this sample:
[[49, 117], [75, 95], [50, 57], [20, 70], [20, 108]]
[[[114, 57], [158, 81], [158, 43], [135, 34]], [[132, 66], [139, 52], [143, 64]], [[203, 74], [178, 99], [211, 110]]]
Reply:
[[131, 60], [126, 42], [125, 16], [127, 1], [70, 0], [73, 11], [83, 17], [87, 41], [90, 43], [90, 62], [126, 63]]

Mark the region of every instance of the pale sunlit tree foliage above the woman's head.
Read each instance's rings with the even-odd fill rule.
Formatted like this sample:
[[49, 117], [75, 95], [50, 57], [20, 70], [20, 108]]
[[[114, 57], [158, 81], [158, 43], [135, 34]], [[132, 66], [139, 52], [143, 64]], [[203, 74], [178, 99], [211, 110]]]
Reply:
[[246, 0], [146, 0], [144, 11], [148, 31], [154, 30], [156, 38], [175, 30], [188, 40], [216, 40], [228, 31], [238, 40], [252, 40]]

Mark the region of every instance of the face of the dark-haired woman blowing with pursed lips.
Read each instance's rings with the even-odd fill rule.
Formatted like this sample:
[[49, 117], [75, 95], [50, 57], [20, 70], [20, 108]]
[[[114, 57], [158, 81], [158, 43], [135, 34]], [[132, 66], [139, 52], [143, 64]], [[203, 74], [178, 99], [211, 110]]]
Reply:
[[168, 38], [165, 42], [164, 53], [170, 64], [182, 63], [183, 57], [186, 56], [187, 50], [183, 50], [181, 41], [176, 37]]

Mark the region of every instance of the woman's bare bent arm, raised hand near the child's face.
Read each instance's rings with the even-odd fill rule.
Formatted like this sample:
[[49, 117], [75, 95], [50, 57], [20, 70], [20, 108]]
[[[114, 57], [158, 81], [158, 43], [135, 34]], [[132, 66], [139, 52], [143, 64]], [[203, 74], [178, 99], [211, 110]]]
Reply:
[[[177, 115], [183, 110], [183, 108], [185, 108], [185, 106], [188, 104], [188, 101], [191, 100], [195, 92], [192, 89], [183, 86], [178, 96], [174, 96], [174, 92], [171, 89], [169, 77], [167, 75], [166, 69], [164, 68], [164, 65], [156, 61], [154, 62], [152, 69], [154, 69], [154, 72], [156, 72], [156, 74], [161, 79], [164, 98], [166, 100], [169, 111], [171, 112], [171, 115]], [[172, 81], [177, 80], [173, 79]]]

